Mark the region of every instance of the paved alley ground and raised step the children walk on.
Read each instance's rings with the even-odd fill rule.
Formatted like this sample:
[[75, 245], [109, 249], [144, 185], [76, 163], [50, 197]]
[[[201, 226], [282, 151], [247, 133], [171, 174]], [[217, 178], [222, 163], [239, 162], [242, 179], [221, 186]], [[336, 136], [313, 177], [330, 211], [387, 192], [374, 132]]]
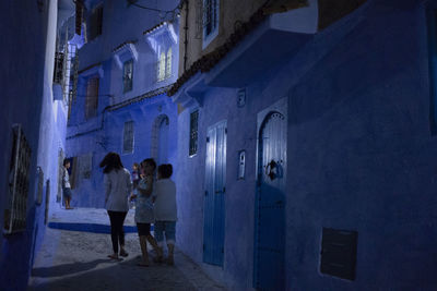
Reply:
[[[75, 208], [55, 211], [50, 221], [108, 225], [104, 209]], [[133, 226], [130, 210], [125, 225]], [[127, 233], [129, 256], [121, 262], [107, 258], [110, 235], [87, 231], [47, 228], [38, 252], [28, 290], [225, 290], [204, 275], [180, 251], [175, 266], [137, 266], [140, 244], [137, 233]]]

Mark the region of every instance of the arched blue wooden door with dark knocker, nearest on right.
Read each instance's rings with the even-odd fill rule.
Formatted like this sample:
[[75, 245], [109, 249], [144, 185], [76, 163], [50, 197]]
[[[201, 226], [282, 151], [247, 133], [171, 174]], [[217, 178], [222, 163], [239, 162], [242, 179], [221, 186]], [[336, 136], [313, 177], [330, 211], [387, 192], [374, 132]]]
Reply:
[[255, 287], [284, 290], [286, 119], [272, 111], [259, 129]]

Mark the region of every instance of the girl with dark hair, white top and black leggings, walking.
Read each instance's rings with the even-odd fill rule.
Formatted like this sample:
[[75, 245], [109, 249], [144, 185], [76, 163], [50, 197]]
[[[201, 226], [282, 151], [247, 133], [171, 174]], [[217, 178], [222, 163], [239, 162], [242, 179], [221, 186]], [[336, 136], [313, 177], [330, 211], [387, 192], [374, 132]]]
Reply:
[[108, 257], [118, 259], [118, 243], [120, 256], [128, 256], [125, 251], [123, 223], [129, 210], [128, 196], [132, 189], [129, 170], [125, 169], [117, 153], [108, 153], [101, 162], [104, 172], [105, 204], [110, 220], [110, 239], [114, 253]]

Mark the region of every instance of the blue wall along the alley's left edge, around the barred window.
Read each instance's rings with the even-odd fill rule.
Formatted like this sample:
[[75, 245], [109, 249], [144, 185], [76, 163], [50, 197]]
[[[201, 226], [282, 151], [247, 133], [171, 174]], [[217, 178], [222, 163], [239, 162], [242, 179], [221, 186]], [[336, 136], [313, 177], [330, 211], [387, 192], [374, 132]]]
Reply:
[[[0, 289], [25, 290], [35, 253], [44, 237], [46, 210], [45, 187], [43, 202], [36, 204], [36, 168], [50, 180], [50, 205], [57, 189], [57, 150], [63, 147], [67, 107], [54, 101], [51, 83], [54, 74], [57, 1], [46, 1], [42, 8], [36, 2], [2, 2], [3, 64], [1, 68], [0, 177], [8, 177], [11, 158], [11, 126], [21, 123], [32, 148], [29, 192], [26, 230], [11, 235], [0, 235]], [[23, 24], [26, 28], [24, 29]], [[32, 68], [32, 70], [27, 70]], [[5, 179], [2, 179], [7, 181]], [[1, 184], [8, 193], [8, 184]], [[4, 195], [0, 197], [0, 225], [3, 225]]]

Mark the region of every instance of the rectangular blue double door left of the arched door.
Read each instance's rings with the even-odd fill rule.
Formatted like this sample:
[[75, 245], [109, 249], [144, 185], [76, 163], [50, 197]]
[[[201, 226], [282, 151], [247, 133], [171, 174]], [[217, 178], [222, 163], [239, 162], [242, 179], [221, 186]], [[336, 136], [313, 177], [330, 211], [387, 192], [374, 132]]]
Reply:
[[203, 262], [223, 266], [225, 241], [226, 121], [208, 129]]

